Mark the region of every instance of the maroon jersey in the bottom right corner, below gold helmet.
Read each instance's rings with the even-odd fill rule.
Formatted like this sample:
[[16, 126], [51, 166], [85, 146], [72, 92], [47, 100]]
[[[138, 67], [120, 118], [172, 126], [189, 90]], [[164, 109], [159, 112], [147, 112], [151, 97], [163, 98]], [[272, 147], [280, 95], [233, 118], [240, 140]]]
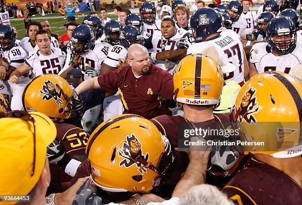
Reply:
[[255, 157], [227, 183], [223, 192], [238, 205], [302, 204], [299, 184]]

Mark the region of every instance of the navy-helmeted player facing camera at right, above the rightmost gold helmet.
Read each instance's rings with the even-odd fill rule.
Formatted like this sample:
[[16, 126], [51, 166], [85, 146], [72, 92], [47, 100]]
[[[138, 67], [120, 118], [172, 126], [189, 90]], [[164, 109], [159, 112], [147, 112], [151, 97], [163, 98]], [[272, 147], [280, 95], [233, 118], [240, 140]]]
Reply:
[[267, 25], [266, 38], [267, 43], [257, 43], [251, 49], [251, 76], [274, 70], [292, 74], [291, 68], [302, 64], [294, 22], [286, 16], [273, 18]]

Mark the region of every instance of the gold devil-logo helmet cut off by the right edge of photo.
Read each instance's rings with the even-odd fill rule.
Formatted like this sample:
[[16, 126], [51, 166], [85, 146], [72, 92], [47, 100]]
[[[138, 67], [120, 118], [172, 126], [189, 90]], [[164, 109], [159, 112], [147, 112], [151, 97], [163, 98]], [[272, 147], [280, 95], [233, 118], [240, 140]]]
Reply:
[[302, 84], [289, 74], [273, 71], [253, 76], [242, 86], [231, 115], [239, 122], [245, 153], [289, 158], [302, 154]]

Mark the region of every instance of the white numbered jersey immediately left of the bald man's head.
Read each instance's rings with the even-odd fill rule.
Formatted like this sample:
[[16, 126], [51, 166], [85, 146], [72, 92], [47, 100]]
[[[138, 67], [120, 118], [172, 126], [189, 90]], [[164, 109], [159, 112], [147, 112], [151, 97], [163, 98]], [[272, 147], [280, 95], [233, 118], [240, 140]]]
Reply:
[[123, 62], [125, 57], [127, 56], [127, 53], [128, 50], [124, 46], [114, 45], [109, 49], [108, 56], [103, 63], [113, 68], [118, 67], [118, 59]]

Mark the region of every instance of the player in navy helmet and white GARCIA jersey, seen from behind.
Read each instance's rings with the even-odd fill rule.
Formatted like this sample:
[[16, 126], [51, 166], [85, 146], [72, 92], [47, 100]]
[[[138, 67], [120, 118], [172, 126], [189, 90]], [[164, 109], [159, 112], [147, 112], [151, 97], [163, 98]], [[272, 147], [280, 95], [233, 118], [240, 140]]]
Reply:
[[225, 80], [236, 81], [242, 86], [249, 67], [239, 35], [232, 30], [224, 30], [220, 13], [212, 8], [197, 10], [191, 17], [190, 25], [196, 43], [189, 46], [187, 54], [200, 53], [201, 48], [218, 45], [236, 67], [225, 75]]

